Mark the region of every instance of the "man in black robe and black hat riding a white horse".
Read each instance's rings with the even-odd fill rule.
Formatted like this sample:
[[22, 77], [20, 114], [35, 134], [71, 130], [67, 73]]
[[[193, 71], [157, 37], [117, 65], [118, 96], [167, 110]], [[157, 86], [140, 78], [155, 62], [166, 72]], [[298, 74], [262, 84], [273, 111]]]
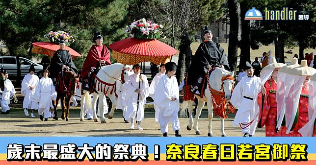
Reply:
[[188, 84], [191, 85], [194, 94], [200, 95], [201, 83], [208, 70], [214, 67], [229, 69], [227, 55], [218, 43], [212, 41], [212, 32], [206, 26], [204, 31], [204, 42], [200, 44], [195, 52], [190, 69], [188, 71]]

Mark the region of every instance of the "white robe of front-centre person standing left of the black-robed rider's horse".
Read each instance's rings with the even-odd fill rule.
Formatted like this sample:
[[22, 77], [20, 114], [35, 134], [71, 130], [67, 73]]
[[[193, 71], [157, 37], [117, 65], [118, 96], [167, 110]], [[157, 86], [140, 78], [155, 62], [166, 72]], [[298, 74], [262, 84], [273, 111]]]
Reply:
[[[176, 98], [171, 101], [171, 98]], [[180, 130], [180, 122], [178, 118], [179, 112], [179, 87], [175, 76], [171, 78], [163, 75], [156, 87], [154, 94], [155, 104], [159, 108], [159, 123], [162, 133], [168, 132], [168, 122], [172, 122], [173, 131]]]

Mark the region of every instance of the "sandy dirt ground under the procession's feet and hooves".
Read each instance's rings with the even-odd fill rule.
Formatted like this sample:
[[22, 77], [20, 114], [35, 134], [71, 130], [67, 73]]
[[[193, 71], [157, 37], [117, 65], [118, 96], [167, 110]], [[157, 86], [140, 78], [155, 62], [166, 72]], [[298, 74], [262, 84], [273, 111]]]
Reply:
[[[41, 121], [37, 118], [26, 118], [22, 109], [13, 109], [9, 115], [0, 115], [0, 136], [161, 136], [159, 124], [155, 122], [155, 113], [152, 110], [145, 110], [145, 119], [142, 122], [144, 130], [129, 130], [130, 124], [123, 121], [122, 112], [116, 112], [113, 119], [107, 119], [105, 124], [86, 120], [79, 122], [79, 109], [72, 109], [70, 121], [53, 120]], [[60, 117], [60, 112], [58, 112]], [[208, 119], [207, 111], [202, 111], [202, 118], [199, 120], [201, 135], [195, 135], [195, 131], [186, 130], [188, 118], [180, 118], [182, 136], [207, 136]], [[242, 136], [240, 128], [232, 125], [233, 118], [225, 120], [225, 132], [227, 136]], [[135, 127], [136, 128], [136, 127]], [[220, 119], [212, 121], [214, 136], [221, 136]], [[169, 136], [174, 136], [171, 123], [169, 123]], [[257, 129], [256, 136], [264, 136], [264, 128]]]

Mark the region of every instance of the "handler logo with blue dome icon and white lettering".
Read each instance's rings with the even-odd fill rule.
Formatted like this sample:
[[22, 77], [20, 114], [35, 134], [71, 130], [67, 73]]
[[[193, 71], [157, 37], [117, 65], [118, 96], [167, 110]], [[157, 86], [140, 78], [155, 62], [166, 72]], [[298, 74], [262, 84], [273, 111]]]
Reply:
[[[289, 7], [283, 7], [282, 10], [270, 10], [265, 7], [264, 15], [264, 20], [267, 21], [294, 21], [296, 20], [297, 10], [291, 10]], [[263, 15], [258, 9], [252, 7], [246, 12], [245, 20], [263, 20]]]

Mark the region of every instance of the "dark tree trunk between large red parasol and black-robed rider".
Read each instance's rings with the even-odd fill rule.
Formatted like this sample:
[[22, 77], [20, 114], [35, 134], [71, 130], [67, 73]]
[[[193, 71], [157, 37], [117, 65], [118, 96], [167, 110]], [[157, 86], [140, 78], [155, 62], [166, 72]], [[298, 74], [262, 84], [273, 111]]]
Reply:
[[178, 59], [178, 67], [177, 67], [177, 81], [180, 84], [182, 80], [184, 79], [184, 73], [185, 73], [185, 57], [190, 56], [191, 54], [191, 48], [190, 48], [190, 39], [188, 30], [185, 29], [183, 35], [180, 39], [180, 52], [179, 52], [179, 59]]

